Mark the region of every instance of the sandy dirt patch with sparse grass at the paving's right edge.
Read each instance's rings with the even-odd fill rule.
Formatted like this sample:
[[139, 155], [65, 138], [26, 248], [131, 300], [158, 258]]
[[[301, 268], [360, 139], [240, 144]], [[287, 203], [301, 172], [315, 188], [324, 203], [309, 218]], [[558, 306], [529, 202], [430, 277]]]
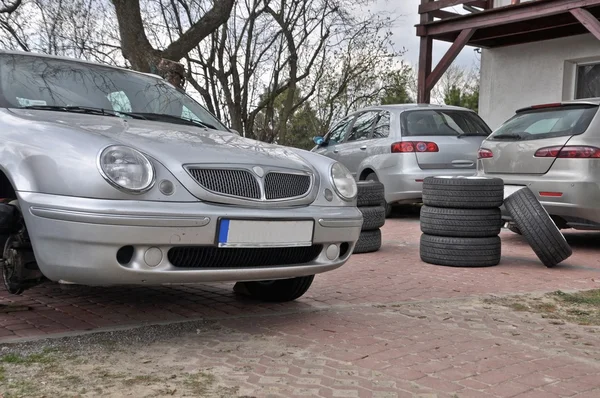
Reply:
[[519, 295], [486, 299], [515, 311], [541, 314], [554, 319], [555, 323], [574, 323], [584, 326], [600, 326], [600, 289], [566, 293], [557, 290], [541, 296]]

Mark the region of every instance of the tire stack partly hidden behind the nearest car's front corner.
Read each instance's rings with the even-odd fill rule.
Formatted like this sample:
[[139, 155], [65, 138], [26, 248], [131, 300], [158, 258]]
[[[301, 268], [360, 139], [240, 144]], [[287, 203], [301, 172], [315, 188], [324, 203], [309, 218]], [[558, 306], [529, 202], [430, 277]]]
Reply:
[[384, 186], [378, 181], [359, 181], [357, 185], [357, 206], [363, 224], [353, 253], [376, 252], [381, 248], [381, 227], [385, 224]]

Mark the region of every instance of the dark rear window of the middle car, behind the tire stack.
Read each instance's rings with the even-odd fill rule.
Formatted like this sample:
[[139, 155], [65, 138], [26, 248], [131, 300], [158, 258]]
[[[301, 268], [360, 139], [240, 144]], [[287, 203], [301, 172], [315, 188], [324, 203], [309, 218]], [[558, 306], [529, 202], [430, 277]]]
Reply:
[[400, 116], [402, 135], [487, 137], [491, 130], [474, 112], [446, 109], [427, 109], [403, 112]]

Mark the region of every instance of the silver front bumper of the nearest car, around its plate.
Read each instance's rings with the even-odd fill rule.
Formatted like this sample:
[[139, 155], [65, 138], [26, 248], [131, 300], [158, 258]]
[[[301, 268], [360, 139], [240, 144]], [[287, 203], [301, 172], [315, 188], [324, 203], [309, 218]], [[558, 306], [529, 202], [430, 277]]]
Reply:
[[[265, 210], [201, 202], [98, 200], [26, 192], [17, 195], [42, 273], [53, 281], [84, 285], [251, 281], [313, 275], [338, 268], [348, 260], [362, 225], [360, 211], [352, 206]], [[202, 268], [198, 264], [182, 268], [170, 262], [171, 248], [215, 248], [220, 217], [312, 219], [313, 244], [322, 245], [322, 250], [309, 262], [281, 266]], [[341, 248], [334, 259], [327, 256], [331, 244]], [[124, 262], [121, 256], [119, 261], [117, 253], [126, 246], [132, 248], [130, 259]]]

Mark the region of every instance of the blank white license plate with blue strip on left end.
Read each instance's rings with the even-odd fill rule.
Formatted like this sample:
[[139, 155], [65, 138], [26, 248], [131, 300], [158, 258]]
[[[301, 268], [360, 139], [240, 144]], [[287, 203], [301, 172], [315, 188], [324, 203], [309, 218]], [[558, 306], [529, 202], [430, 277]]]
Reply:
[[311, 246], [314, 221], [221, 220], [219, 247]]

